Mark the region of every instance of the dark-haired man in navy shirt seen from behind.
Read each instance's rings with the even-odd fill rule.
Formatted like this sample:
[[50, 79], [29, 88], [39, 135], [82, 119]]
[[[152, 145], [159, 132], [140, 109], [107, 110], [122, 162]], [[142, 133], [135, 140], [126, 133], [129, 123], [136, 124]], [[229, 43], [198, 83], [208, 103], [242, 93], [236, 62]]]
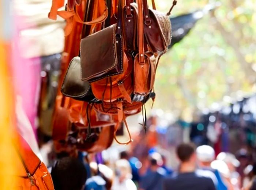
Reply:
[[196, 171], [196, 153], [193, 144], [182, 143], [176, 149], [179, 171], [163, 180], [164, 190], [215, 190], [211, 178]]

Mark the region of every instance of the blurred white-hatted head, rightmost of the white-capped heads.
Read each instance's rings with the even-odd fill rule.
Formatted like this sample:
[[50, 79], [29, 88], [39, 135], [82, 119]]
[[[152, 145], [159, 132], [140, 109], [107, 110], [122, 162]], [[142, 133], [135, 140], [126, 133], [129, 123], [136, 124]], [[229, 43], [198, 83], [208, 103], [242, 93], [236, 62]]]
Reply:
[[229, 167], [230, 172], [236, 171], [236, 168], [240, 166], [240, 161], [236, 159], [235, 155], [229, 152], [219, 153], [216, 159], [224, 161]]

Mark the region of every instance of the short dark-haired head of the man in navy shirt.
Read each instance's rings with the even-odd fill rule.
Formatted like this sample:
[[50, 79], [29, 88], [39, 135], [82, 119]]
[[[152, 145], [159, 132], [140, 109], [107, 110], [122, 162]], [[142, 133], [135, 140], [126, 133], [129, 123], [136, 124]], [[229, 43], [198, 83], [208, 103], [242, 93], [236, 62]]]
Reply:
[[176, 154], [181, 163], [191, 163], [195, 165], [196, 155], [195, 146], [191, 143], [182, 143], [178, 145]]

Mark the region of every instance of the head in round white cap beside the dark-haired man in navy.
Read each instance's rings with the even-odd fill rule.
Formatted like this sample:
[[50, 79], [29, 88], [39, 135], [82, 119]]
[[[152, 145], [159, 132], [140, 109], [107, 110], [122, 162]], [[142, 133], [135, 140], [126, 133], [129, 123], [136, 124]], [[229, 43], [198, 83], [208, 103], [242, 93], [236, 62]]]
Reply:
[[196, 156], [201, 167], [210, 167], [215, 159], [215, 151], [208, 145], [202, 145], [196, 148]]

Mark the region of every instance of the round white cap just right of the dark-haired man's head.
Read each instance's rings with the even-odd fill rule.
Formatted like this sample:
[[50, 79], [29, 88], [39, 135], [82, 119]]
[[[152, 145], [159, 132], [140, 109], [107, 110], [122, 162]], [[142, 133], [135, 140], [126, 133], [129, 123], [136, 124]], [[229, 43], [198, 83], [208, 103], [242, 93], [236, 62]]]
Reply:
[[208, 145], [202, 145], [197, 147], [196, 156], [200, 161], [212, 161], [215, 158], [215, 151]]

